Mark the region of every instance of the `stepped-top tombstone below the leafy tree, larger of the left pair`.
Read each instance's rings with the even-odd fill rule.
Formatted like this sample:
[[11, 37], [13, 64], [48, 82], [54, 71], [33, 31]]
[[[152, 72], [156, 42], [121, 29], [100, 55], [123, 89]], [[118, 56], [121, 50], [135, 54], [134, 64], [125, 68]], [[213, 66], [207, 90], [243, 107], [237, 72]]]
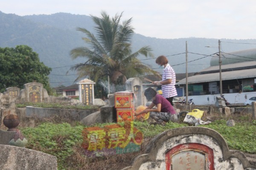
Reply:
[[29, 82], [20, 91], [22, 102], [44, 102], [48, 98], [47, 90], [39, 82]]

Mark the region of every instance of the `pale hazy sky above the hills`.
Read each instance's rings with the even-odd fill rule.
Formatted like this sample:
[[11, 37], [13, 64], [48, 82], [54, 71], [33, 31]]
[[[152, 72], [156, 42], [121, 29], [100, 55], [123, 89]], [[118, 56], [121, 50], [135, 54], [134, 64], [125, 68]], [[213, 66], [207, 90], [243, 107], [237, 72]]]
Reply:
[[111, 17], [123, 11], [135, 32], [156, 38], [256, 39], [256, 0], [0, 0], [6, 14]]

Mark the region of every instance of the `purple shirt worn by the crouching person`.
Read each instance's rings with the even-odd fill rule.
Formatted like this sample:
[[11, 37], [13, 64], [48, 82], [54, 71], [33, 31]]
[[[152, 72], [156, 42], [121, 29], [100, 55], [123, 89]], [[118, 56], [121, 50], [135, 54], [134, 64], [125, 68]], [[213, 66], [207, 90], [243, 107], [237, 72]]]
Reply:
[[164, 98], [162, 95], [157, 94], [156, 99], [152, 101], [155, 105], [161, 103], [161, 111], [160, 112], [169, 112], [171, 114], [176, 114], [176, 111], [174, 110], [173, 106], [171, 103]]

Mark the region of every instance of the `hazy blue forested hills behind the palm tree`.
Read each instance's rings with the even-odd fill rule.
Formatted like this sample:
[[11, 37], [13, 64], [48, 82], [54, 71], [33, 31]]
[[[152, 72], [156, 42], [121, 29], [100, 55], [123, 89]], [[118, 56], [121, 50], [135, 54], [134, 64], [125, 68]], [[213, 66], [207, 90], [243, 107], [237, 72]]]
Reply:
[[[122, 19], [126, 20], [128, 18], [123, 16]], [[84, 62], [84, 60], [71, 60], [70, 50], [86, 45], [82, 40], [84, 34], [76, 31], [77, 27], [93, 31], [93, 22], [90, 16], [56, 13], [21, 17], [0, 11], [0, 47], [28, 45], [39, 54], [41, 62], [52, 68], [49, 76], [52, 87], [72, 85], [76, 75], [69, 71], [70, 65]], [[145, 29], [147, 28], [145, 27]], [[134, 31], [136, 33], [136, 28]], [[170, 31], [169, 34], [172, 34], [172, 32]], [[186, 62], [186, 57], [184, 53], [186, 51], [186, 41], [189, 51], [188, 61], [195, 60], [188, 63], [188, 71], [197, 72], [207, 68], [211, 57], [206, 56], [218, 52], [218, 39], [196, 37], [157, 39], [134, 34], [133, 48], [135, 51], [149, 45], [153, 48], [155, 57], [159, 55], [168, 56], [169, 62], [176, 73], [185, 73], [184, 62]], [[248, 43], [256, 44], [256, 40], [221, 39], [221, 51], [231, 52], [256, 48], [256, 45]], [[212, 48], [206, 48], [205, 46], [212, 46]], [[158, 66], [155, 64], [155, 59], [145, 59], [145, 57], [140, 57], [140, 59], [141, 62], [151, 65], [153, 69], [160, 71], [160, 69], [156, 69]], [[69, 73], [65, 75], [67, 71]]]

